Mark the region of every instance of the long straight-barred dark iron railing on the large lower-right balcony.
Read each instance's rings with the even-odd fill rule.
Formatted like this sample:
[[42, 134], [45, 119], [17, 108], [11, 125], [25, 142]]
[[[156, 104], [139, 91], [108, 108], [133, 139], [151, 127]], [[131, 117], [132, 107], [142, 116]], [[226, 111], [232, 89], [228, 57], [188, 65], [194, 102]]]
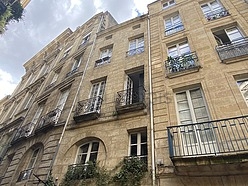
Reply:
[[170, 158], [248, 153], [248, 116], [167, 127]]

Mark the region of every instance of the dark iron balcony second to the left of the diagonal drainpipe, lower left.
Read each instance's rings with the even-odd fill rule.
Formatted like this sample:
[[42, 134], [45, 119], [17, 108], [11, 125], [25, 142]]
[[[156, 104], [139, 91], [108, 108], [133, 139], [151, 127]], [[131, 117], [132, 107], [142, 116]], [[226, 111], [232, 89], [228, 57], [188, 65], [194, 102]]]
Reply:
[[17, 132], [16, 132], [11, 144], [13, 145], [16, 142], [19, 142], [19, 141], [29, 137], [32, 134], [33, 128], [34, 128], [34, 123], [29, 123], [27, 125], [20, 127], [19, 129], [17, 129]]

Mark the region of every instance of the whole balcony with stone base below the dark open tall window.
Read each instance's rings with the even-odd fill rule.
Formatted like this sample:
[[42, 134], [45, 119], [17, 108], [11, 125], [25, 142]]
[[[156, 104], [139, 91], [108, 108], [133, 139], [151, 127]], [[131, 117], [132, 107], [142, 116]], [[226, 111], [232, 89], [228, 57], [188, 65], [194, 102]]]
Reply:
[[116, 112], [122, 114], [144, 109], [146, 107], [145, 92], [146, 90], [143, 86], [117, 92], [115, 100]]

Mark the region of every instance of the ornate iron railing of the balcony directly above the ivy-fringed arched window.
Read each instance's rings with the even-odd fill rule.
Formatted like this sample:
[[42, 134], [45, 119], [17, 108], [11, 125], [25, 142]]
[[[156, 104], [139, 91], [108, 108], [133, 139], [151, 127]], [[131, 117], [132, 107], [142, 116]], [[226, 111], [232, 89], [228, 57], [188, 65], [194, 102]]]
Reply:
[[96, 96], [90, 99], [79, 101], [74, 117], [93, 112], [100, 113], [101, 105], [102, 105], [101, 96]]

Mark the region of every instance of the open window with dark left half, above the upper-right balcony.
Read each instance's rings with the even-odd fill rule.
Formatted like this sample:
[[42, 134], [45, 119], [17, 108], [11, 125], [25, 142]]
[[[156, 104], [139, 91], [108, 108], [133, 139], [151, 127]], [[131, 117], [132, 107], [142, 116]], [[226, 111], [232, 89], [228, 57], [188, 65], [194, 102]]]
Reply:
[[214, 32], [215, 40], [218, 45], [225, 45], [230, 43], [235, 43], [243, 40], [243, 35], [237, 27], [226, 28]]

